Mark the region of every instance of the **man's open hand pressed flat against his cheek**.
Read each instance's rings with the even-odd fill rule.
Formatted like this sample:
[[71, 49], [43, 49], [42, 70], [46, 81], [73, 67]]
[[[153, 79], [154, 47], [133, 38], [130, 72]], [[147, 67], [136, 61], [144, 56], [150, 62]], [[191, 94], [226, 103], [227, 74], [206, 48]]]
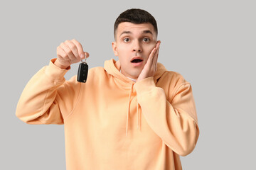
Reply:
[[146, 61], [146, 64], [144, 65], [144, 68], [142, 69], [142, 72], [139, 74], [138, 79], [136, 82], [141, 81], [142, 79], [146, 79], [147, 77], [153, 77], [156, 69], [157, 69], [157, 59], [159, 55], [159, 45], [161, 41], [158, 41], [156, 43], [156, 47], [153, 48], [151, 51], [148, 60]]

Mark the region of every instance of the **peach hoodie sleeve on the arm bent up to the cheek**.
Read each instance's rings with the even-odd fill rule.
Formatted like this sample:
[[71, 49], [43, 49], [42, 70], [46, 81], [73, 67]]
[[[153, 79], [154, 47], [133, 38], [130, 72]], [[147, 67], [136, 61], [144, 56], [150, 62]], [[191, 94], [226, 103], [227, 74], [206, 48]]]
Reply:
[[191, 84], [181, 79], [174, 89], [168, 90], [171, 94], [167, 98], [164, 89], [156, 86], [153, 77], [137, 82], [134, 88], [151, 129], [177, 154], [186, 156], [191, 153], [199, 136]]

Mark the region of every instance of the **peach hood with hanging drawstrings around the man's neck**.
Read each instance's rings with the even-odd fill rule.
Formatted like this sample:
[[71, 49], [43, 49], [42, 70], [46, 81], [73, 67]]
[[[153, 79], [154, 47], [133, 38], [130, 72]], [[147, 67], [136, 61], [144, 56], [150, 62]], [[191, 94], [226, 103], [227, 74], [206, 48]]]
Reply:
[[[126, 135], [128, 134], [128, 125], [129, 125], [129, 111], [130, 111], [130, 103], [131, 103], [131, 95], [132, 95], [132, 91], [134, 88], [134, 84], [136, 82], [132, 81], [131, 79], [127, 78], [124, 76], [124, 74], [122, 74], [119, 70], [121, 68], [120, 62], [115, 61], [114, 59], [111, 60], [107, 60], [105, 61], [104, 64], [104, 69], [106, 70], [106, 72], [110, 75], [112, 75], [114, 78], [119, 79], [119, 81], [122, 81], [122, 84], [124, 85], [124, 88], [127, 89], [129, 88], [129, 99], [127, 102], [127, 125], [126, 125]], [[154, 74], [154, 82], [156, 84], [156, 81], [164, 74], [164, 72], [166, 72], [166, 68], [164, 67], [163, 64], [161, 63], [157, 63], [157, 69], [156, 69], [156, 73]], [[140, 114], [139, 114], [139, 103], [137, 103], [137, 129], [140, 129]]]

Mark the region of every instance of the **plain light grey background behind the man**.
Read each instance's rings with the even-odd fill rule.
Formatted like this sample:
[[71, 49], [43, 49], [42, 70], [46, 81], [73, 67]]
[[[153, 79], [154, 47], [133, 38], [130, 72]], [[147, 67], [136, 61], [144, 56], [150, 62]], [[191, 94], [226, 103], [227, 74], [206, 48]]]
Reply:
[[[75, 38], [90, 67], [114, 57], [113, 24], [128, 8], [158, 22], [159, 62], [191, 82], [201, 130], [183, 169], [255, 169], [255, 1], [1, 1], [0, 169], [65, 169], [63, 125], [15, 115], [28, 80]], [[77, 73], [74, 64], [65, 78]]]

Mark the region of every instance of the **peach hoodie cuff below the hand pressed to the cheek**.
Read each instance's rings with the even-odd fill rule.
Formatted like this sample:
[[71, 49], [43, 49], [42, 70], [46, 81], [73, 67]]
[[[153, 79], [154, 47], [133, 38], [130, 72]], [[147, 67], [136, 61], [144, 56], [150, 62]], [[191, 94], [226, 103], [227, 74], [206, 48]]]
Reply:
[[144, 91], [150, 91], [151, 89], [155, 88], [156, 84], [154, 82], [154, 77], [147, 77], [137, 83], [134, 84], [134, 88], [136, 89], [137, 93], [143, 93]]

